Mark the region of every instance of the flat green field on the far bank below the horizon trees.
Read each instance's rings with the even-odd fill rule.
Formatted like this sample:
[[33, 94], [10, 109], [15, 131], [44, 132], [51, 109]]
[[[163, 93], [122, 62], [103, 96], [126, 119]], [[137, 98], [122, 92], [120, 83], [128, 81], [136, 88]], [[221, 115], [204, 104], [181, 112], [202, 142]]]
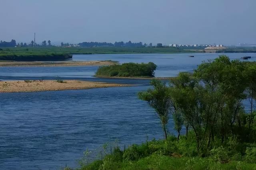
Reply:
[[[196, 51], [195, 51], [196, 52]], [[0, 60], [55, 61], [69, 58], [72, 54], [131, 54], [131, 53], [191, 53], [174, 47], [1, 47]]]

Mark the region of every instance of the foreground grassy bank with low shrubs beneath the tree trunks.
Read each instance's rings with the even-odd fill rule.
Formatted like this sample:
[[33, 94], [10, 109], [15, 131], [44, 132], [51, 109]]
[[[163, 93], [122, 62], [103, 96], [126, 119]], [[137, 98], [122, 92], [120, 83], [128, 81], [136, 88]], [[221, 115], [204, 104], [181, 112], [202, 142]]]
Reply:
[[[179, 141], [169, 136], [167, 140], [153, 140], [141, 145], [131, 145], [120, 150], [118, 145], [105, 144], [98, 160], [90, 162], [90, 150], [80, 160], [80, 170], [255, 170], [255, 145], [241, 144], [229, 139], [224, 147], [212, 149], [207, 156], [196, 154], [193, 134]], [[238, 147], [240, 146], [240, 148]], [[240, 150], [240, 149], [244, 150]]]

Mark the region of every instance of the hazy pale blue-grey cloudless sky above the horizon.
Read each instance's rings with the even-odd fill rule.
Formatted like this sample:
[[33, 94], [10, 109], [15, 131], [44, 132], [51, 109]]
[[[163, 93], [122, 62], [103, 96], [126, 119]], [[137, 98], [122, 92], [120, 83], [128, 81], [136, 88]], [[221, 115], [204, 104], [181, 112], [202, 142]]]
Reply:
[[0, 0], [0, 40], [256, 44], [256, 0]]

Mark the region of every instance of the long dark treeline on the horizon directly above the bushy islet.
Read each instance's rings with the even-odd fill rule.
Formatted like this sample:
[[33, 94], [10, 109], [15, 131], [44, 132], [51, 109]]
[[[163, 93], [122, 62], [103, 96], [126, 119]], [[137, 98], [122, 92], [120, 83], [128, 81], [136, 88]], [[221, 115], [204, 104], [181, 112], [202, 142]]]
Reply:
[[81, 47], [146, 47], [146, 46], [152, 46], [152, 43], [150, 43], [150, 45], [147, 45], [146, 43], [132, 43], [131, 41], [128, 41], [126, 43], [124, 43], [124, 41], [120, 41], [120, 42], [115, 42], [113, 43], [99, 43], [99, 42], [82, 42], [79, 43], [78, 45], [80, 45]]

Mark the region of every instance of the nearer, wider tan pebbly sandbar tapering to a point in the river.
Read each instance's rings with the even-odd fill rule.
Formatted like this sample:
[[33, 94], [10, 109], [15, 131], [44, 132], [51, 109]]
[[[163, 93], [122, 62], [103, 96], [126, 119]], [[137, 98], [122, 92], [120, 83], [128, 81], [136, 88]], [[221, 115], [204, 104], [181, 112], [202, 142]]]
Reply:
[[88, 89], [88, 88], [106, 88], [131, 86], [129, 84], [109, 84], [104, 82], [87, 82], [78, 80], [19, 80], [0, 82], [0, 93], [8, 92], [41, 92], [56, 90]]

